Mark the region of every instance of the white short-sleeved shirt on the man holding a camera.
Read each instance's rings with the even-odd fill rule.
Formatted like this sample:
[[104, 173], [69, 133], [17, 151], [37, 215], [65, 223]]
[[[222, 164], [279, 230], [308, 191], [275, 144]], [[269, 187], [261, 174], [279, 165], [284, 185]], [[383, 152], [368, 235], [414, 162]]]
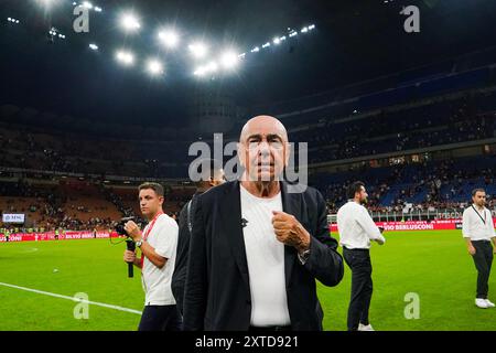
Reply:
[[[149, 223], [142, 234], [150, 227]], [[175, 253], [177, 248], [177, 223], [166, 214], [161, 214], [150, 234], [147, 243], [155, 249], [155, 253], [168, 260], [162, 268], [158, 268], [144, 257], [141, 269], [141, 282], [144, 290], [145, 306], [174, 306], [175, 299], [172, 295], [171, 281], [175, 266]]]

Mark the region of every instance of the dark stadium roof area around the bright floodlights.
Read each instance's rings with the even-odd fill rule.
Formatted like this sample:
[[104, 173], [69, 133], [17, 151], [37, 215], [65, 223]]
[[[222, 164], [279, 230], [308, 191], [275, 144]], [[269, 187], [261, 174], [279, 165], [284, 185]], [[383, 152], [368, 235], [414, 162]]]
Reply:
[[[89, 33], [73, 30], [79, 3], [91, 6]], [[421, 11], [420, 33], [403, 30], [400, 11], [410, 4]], [[119, 25], [128, 11], [139, 20], [136, 33]], [[0, 103], [174, 127], [196, 87], [228, 92], [244, 105], [295, 98], [495, 45], [494, 23], [490, 0], [4, 0]], [[303, 31], [311, 24], [313, 33]], [[175, 52], [157, 41], [157, 31], [171, 26], [185, 40]], [[230, 74], [197, 77], [185, 55], [194, 39], [211, 53], [231, 47], [245, 56]], [[122, 49], [139, 64], [119, 65]], [[126, 54], [118, 57], [134, 60]], [[149, 57], [159, 57], [148, 67], [163, 75], [145, 74]]]

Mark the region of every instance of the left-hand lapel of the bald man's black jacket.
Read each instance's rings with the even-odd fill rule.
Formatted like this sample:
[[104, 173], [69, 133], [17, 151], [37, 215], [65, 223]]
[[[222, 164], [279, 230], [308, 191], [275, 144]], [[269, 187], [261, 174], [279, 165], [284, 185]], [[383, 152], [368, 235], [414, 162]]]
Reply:
[[233, 250], [233, 256], [241, 272], [241, 277], [249, 289], [248, 261], [246, 258], [245, 238], [241, 228], [241, 196], [239, 194], [239, 181], [233, 182], [231, 188], [226, 189], [226, 199], [222, 205], [223, 223], [226, 228], [227, 242]]

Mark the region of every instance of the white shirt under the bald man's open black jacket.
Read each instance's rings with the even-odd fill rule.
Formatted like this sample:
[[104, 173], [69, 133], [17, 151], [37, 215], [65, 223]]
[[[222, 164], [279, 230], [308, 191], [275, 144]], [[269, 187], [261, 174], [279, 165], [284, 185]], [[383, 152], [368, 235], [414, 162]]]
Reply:
[[254, 327], [289, 325], [284, 275], [284, 244], [272, 225], [272, 211], [282, 211], [281, 193], [271, 199], [250, 194], [242, 185], [241, 216], [251, 295]]

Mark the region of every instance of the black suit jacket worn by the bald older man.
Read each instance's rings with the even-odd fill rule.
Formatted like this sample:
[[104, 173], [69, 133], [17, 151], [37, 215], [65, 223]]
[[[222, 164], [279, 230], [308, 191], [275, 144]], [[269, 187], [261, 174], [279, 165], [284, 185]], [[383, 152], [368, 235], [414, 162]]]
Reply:
[[[281, 182], [282, 207], [311, 235], [305, 265], [294, 247], [284, 246], [284, 274], [291, 327], [322, 330], [323, 313], [315, 279], [336, 286], [343, 278], [337, 242], [328, 235], [325, 201], [319, 191], [288, 193]], [[197, 197], [184, 295], [185, 330], [248, 330], [250, 286], [241, 228], [239, 182], [227, 182]]]

